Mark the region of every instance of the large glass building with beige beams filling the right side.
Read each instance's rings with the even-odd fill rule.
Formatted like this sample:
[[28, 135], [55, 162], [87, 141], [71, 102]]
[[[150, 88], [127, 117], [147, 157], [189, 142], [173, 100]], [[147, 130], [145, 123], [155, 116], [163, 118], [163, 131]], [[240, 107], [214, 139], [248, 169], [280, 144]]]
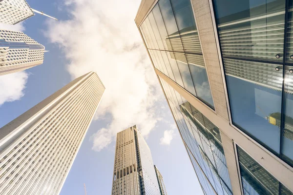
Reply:
[[205, 195], [293, 195], [290, 0], [142, 0], [135, 22]]

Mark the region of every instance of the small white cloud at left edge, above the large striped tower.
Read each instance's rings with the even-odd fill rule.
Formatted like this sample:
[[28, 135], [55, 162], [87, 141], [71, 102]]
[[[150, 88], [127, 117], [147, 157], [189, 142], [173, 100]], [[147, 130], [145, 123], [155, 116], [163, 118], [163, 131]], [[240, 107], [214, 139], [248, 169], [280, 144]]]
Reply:
[[24, 96], [27, 78], [28, 75], [24, 71], [0, 76], [0, 105]]

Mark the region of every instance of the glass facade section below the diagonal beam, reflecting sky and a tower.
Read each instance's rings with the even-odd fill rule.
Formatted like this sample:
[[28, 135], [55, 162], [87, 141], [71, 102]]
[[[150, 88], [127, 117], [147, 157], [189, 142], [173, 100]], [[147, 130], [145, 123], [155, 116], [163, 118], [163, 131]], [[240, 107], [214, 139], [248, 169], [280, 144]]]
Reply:
[[220, 130], [164, 79], [160, 81], [204, 193], [232, 195]]

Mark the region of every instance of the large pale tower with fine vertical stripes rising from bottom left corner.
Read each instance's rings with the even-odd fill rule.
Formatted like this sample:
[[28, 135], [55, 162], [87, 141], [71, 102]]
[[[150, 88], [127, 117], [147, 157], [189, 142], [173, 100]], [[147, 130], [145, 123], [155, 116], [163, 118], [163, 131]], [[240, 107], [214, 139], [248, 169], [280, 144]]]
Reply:
[[94, 72], [0, 129], [0, 195], [58, 195], [105, 87]]

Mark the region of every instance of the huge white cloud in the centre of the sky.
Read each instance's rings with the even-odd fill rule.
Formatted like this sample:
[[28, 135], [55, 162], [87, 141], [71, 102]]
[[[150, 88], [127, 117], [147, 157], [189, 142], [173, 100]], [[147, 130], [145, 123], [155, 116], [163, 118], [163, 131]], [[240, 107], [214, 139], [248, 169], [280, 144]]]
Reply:
[[92, 135], [93, 149], [102, 150], [134, 124], [147, 137], [161, 119], [163, 95], [134, 22], [140, 0], [63, 2], [72, 19], [48, 20], [46, 36], [63, 49], [73, 78], [96, 71], [106, 88], [95, 119], [112, 120]]

